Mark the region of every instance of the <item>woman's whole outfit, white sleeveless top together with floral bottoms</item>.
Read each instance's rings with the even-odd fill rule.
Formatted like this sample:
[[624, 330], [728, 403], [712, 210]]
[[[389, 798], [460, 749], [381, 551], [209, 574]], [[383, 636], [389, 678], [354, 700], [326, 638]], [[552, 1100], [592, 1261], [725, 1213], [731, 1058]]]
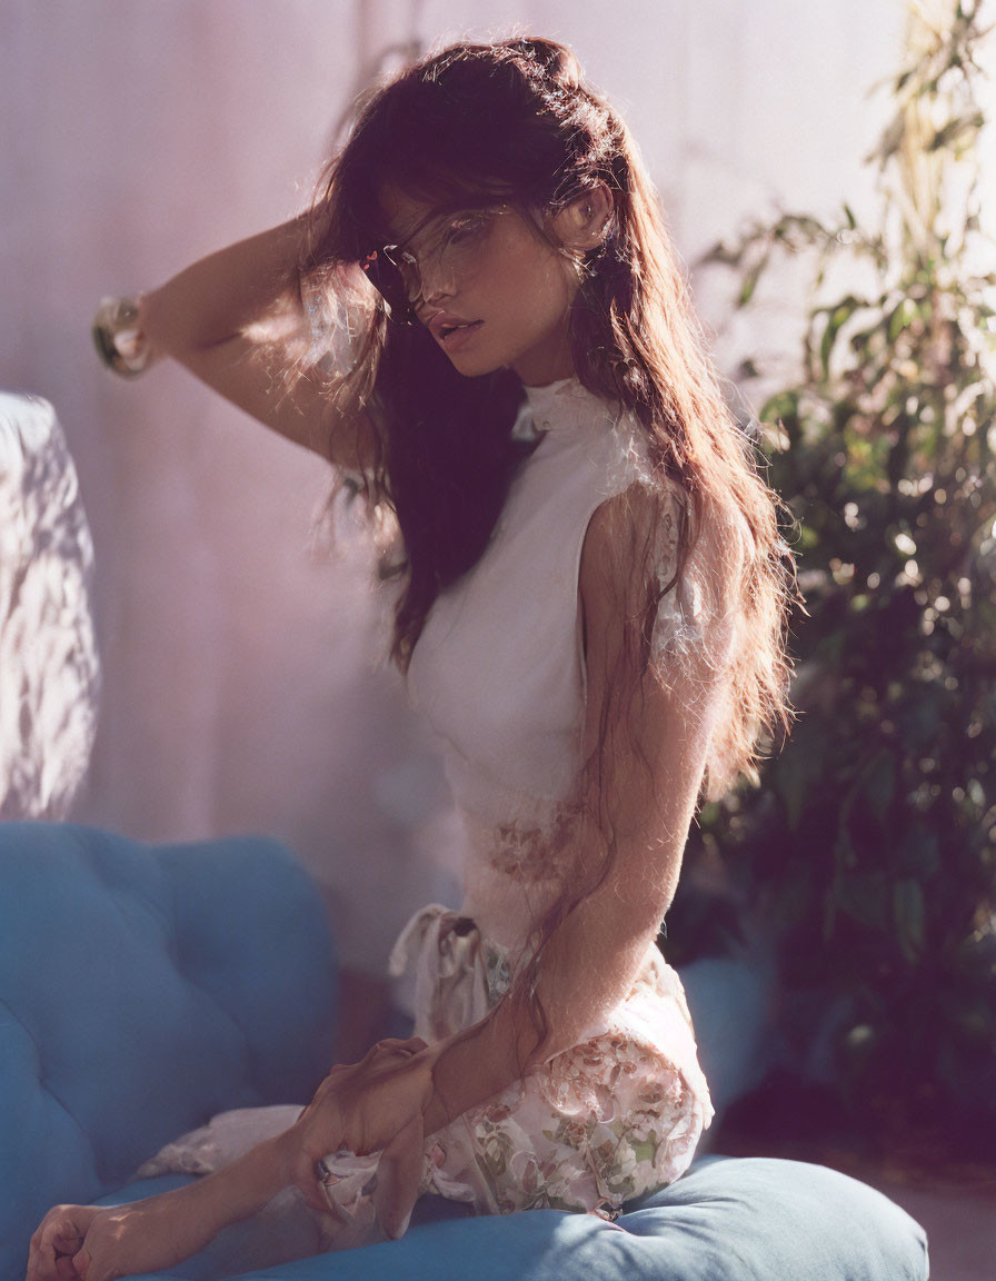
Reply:
[[[415, 971], [415, 1035], [430, 1043], [501, 1000], [562, 884], [544, 836], [580, 769], [581, 547], [595, 510], [641, 466], [632, 420], [576, 379], [527, 388], [515, 430], [539, 443], [480, 561], [433, 606], [408, 673], [412, 701], [442, 739], [466, 834], [460, 912], [424, 908], [392, 956], [394, 974]], [[677, 526], [664, 525], [658, 573], [667, 582]], [[694, 600], [672, 592], [664, 602], [654, 643], [694, 643]], [[591, 1008], [588, 1020], [572, 1049], [429, 1139], [424, 1193], [479, 1213], [553, 1207], [611, 1216], [687, 1168], [713, 1109], [681, 983], [655, 945], [629, 997]], [[294, 1114], [228, 1114], [141, 1172], [209, 1172]], [[328, 1195], [357, 1226], [369, 1222], [364, 1187], [376, 1155], [335, 1153], [326, 1164]]]

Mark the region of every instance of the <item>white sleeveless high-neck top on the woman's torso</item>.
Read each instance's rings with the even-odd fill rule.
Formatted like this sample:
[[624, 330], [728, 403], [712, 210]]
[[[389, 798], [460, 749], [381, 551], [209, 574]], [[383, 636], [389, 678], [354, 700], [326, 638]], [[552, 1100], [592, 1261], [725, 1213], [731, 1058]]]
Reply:
[[[557, 888], [530, 856], [542, 858], [581, 765], [585, 533], [643, 465], [634, 419], [577, 378], [527, 387], [513, 432], [539, 443], [484, 555], [433, 605], [408, 669], [467, 834], [463, 911], [503, 945], [525, 939]], [[673, 561], [658, 571], [668, 580]], [[664, 602], [677, 610], [673, 593]]]

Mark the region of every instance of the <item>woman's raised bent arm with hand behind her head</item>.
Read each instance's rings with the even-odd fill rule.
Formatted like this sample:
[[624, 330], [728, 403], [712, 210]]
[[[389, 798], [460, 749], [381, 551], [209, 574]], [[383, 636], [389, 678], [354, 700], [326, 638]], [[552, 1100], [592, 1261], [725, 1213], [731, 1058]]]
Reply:
[[312, 343], [300, 273], [306, 225], [302, 214], [193, 263], [138, 298], [138, 327], [152, 359], [178, 360], [266, 427], [362, 470], [369, 421], [344, 424], [328, 374], [303, 359]]

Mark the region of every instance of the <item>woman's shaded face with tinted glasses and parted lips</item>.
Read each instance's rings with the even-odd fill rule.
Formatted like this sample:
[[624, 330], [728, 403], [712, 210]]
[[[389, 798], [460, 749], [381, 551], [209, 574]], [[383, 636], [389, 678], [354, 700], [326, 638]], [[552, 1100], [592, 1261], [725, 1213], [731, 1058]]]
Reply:
[[419, 264], [419, 320], [461, 374], [507, 366], [542, 386], [574, 373], [577, 275], [526, 215], [502, 206], [461, 223], [394, 190], [383, 205], [393, 240]]

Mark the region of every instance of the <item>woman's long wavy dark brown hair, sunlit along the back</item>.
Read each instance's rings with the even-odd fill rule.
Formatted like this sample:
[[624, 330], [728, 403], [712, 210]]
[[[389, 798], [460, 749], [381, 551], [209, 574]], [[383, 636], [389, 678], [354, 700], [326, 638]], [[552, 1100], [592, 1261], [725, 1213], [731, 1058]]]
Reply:
[[[650, 498], [641, 510], [652, 519], [638, 521], [636, 534], [631, 528], [618, 548], [626, 644], [584, 770], [602, 856], [589, 874], [563, 886], [536, 927], [521, 976], [518, 990], [531, 1002], [542, 1039], [535, 983], [543, 951], [612, 867], [613, 815], [602, 783], [620, 728], [631, 724], [634, 696], [647, 680], [672, 679], [667, 656], [653, 643], [663, 597], [680, 597], [698, 574], [705, 615], [722, 619], [725, 639], [716, 653], [725, 694], [703, 776], [703, 793], [716, 797], [741, 772], [754, 774], [766, 735], [787, 730], [785, 640], [794, 565], [777, 498], [722, 395], [636, 146], [584, 81], [570, 49], [525, 37], [457, 44], [362, 104], [314, 204], [302, 261], [307, 286], [326, 292], [335, 306], [356, 284], [357, 260], [385, 240], [387, 184], [431, 205], [512, 204], [548, 237], [549, 218], [585, 192], [603, 184], [613, 201], [602, 247], [571, 260], [580, 284], [570, 346], [584, 387], [621, 404], [639, 424], [641, 488]], [[510, 370], [480, 378], [456, 373], [422, 327], [390, 324], [365, 282], [356, 284], [352, 302], [364, 319], [352, 365], [334, 379], [329, 404], [338, 420], [355, 421], [362, 412], [374, 424], [375, 457], [358, 483], [399, 530], [393, 656], [405, 669], [437, 596], [488, 543], [527, 450], [511, 436], [524, 392]], [[682, 498], [677, 567], [661, 582], [653, 514], [663, 505], [653, 500], [675, 492]]]

